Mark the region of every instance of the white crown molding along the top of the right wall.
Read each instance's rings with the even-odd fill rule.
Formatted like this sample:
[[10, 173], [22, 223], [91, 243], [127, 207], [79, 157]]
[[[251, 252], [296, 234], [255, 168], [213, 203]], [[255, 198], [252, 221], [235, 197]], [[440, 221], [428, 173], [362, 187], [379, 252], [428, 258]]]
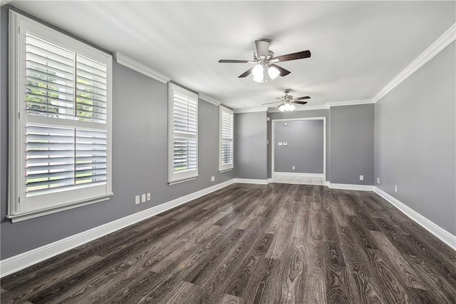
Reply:
[[421, 66], [430, 61], [435, 55], [439, 54], [442, 49], [445, 49], [446, 46], [455, 41], [456, 39], [456, 24], [450, 26], [450, 29], [447, 29], [445, 33], [442, 34], [434, 43], [432, 43], [425, 51], [423, 51], [420, 56], [418, 56], [411, 64], [409, 64], [403, 71], [401, 71], [398, 76], [395, 76], [390, 83], [388, 83], [384, 88], [382, 88], [375, 96], [373, 96], [373, 102], [377, 102], [393, 90], [399, 83], [403, 82], [408, 76], [412, 75], [420, 69]]

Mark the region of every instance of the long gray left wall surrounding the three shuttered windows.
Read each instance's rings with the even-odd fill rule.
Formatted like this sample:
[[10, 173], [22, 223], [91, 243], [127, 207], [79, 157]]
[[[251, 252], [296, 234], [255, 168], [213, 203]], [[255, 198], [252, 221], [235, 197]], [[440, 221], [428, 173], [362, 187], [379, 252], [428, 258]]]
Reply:
[[[234, 178], [233, 171], [218, 172], [219, 109], [199, 101], [199, 177], [167, 186], [167, 85], [113, 63], [114, 196], [109, 201], [11, 223], [5, 218], [8, 198], [8, 99], [4, 89], [8, 86], [6, 9], [2, 8], [1, 14], [2, 260]], [[215, 176], [215, 182], [210, 181], [211, 176]], [[147, 192], [152, 193], [152, 201], [135, 205], [135, 195]]]

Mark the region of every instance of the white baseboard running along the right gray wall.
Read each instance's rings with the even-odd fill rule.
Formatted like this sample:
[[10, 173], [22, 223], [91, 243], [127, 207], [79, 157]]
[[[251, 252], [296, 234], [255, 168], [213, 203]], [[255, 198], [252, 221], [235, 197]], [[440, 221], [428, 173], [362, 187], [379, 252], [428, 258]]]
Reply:
[[402, 211], [402, 213], [404, 213], [405, 216], [408, 216], [413, 221], [420, 224], [420, 226], [425, 228], [427, 231], [437, 236], [437, 238], [440, 238], [440, 240], [442, 240], [443, 243], [449, 245], [451, 248], [456, 250], [456, 235], [452, 235], [447, 230], [443, 229], [436, 223], [425, 218], [420, 213], [414, 211], [412, 208], [405, 205], [405, 203], [402, 203], [397, 198], [390, 196], [388, 193], [381, 190], [380, 188], [374, 187], [374, 191], [382, 198], [385, 198], [385, 200], [388, 201], [391, 205], [395, 206], [400, 211]]

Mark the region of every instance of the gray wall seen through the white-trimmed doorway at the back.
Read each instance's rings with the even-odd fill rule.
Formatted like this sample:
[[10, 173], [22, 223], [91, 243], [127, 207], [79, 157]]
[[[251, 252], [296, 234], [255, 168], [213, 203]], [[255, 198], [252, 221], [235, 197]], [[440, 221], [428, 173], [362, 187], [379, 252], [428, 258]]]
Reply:
[[[287, 146], [278, 146], [284, 141]], [[277, 121], [272, 144], [275, 172], [323, 174], [322, 120]]]

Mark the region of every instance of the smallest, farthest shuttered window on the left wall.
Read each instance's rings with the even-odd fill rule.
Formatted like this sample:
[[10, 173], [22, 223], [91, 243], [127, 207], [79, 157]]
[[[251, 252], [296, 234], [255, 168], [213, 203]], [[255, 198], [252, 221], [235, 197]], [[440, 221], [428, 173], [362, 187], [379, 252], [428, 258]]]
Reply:
[[229, 108], [219, 106], [219, 171], [234, 167], [233, 122], [234, 113]]

